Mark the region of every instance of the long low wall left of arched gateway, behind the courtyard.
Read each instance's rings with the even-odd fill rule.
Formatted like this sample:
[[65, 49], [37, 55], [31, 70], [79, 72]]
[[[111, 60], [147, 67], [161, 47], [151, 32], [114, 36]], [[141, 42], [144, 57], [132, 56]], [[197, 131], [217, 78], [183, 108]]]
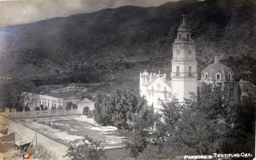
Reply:
[[56, 110], [41, 110], [41, 111], [25, 111], [25, 112], [7, 112], [0, 113], [5, 117], [12, 119], [16, 118], [37, 118], [37, 117], [51, 117], [51, 116], [67, 116], [79, 115], [78, 109], [56, 109]]

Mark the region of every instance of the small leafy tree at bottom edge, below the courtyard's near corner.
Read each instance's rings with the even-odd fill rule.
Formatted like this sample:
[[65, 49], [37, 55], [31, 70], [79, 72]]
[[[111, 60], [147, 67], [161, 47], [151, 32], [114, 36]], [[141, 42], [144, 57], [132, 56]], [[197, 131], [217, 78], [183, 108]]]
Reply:
[[104, 147], [100, 145], [101, 141], [93, 141], [88, 135], [84, 136], [84, 144], [77, 147], [70, 147], [67, 150], [67, 154], [63, 157], [68, 157], [70, 160], [99, 160], [106, 159]]

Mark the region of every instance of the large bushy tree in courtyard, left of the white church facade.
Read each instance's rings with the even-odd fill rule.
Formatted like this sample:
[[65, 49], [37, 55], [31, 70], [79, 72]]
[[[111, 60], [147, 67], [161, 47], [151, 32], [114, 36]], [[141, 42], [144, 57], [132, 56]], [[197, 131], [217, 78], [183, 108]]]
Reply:
[[127, 120], [139, 112], [147, 101], [131, 89], [116, 89], [110, 96], [98, 94], [95, 100], [95, 121], [103, 126], [111, 125], [120, 129], [129, 129]]

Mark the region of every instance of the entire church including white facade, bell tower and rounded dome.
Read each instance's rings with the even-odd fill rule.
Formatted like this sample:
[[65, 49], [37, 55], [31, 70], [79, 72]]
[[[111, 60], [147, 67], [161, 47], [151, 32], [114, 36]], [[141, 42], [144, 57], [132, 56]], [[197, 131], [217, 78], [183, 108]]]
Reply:
[[211, 84], [212, 88], [221, 86], [234, 99], [248, 94], [256, 96], [256, 87], [248, 81], [235, 82], [234, 73], [219, 62], [219, 57], [215, 57], [214, 63], [201, 73], [201, 80], [197, 80], [196, 45], [184, 18], [172, 44], [172, 53], [171, 80], [167, 80], [166, 74], [161, 74], [160, 70], [158, 74], [149, 74], [147, 70], [140, 73], [140, 96], [145, 96], [148, 105], [153, 104], [154, 109], [159, 110], [162, 100], [171, 95], [175, 95], [180, 102], [184, 101], [183, 98], [190, 98], [189, 92], [197, 95], [203, 83]]

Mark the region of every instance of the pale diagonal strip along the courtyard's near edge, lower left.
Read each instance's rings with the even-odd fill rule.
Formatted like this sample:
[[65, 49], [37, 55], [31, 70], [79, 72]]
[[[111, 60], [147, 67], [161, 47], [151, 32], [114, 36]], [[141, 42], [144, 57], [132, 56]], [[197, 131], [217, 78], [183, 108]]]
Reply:
[[[33, 140], [34, 135], [36, 134], [35, 131], [29, 129], [28, 127], [25, 127], [24, 125], [17, 123], [11, 119], [8, 119], [2, 115], [0, 115], [0, 122], [3, 122], [5, 124], [8, 124], [8, 126], [18, 134], [26, 137], [27, 140]], [[56, 142], [55, 140], [52, 140], [48, 137], [45, 137], [44, 135], [37, 132], [37, 144], [41, 143], [45, 148], [48, 148], [49, 151], [52, 151], [55, 153], [55, 158], [57, 160], [67, 159], [67, 157], [63, 158], [63, 155], [66, 154], [66, 150], [68, 150], [68, 147]]]

